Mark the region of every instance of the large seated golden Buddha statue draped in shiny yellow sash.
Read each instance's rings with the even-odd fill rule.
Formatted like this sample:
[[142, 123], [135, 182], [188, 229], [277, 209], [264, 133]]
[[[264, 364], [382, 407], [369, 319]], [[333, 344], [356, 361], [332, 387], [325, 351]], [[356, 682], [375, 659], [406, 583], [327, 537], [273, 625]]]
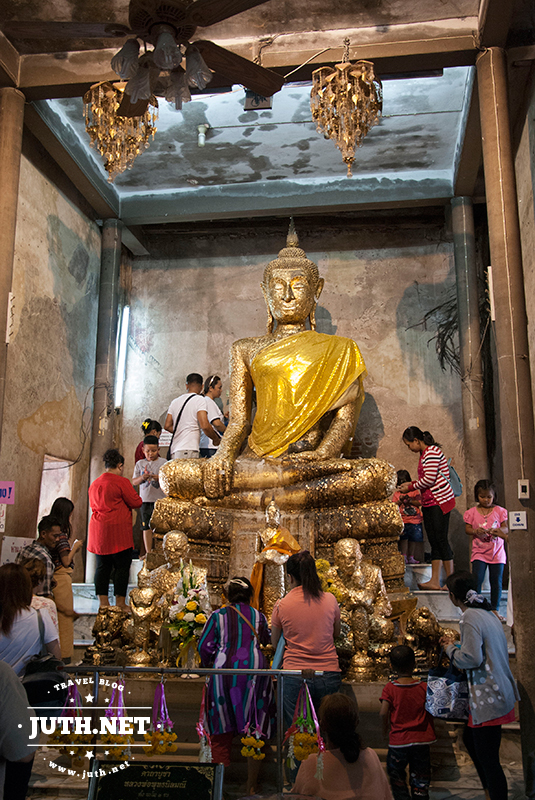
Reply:
[[[348, 535], [379, 543], [373, 559], [392, 586], [401, 586], [396, 542], [402, 523], [387, 499], [394, 468], [378, 459], [341, 457], [350, 449], [364, 400], [366, 367], [351, 339], [316, 331], [323, 284], [292, 226], [261, 284], [267, 333], [231, 348], [230, 422], [217, 454], [161, 468], [160, 485], [169, 496], [156, 503], [152, 522], [157, 530], [180, 528], [190, 539], [234, 541], [250, 531], [250, 523], [240, 528], [236, 515], [261, 512], [272, 497], [288, 519], [302, 516], [290, 529], [324, 557]], [[305, 544], [303, 526], [310, 529]], [[251, 566], [254, 556], [251, 547]]]

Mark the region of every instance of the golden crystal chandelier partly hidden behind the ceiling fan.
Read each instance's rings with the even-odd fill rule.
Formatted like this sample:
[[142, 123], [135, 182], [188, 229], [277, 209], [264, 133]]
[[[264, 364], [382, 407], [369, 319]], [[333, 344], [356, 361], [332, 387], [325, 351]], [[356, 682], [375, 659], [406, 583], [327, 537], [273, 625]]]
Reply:
[[85, 129], [96, 147], [106, 159], [104, 169], [111, 183], [116, 175], [131, 169], [137, 156], [147, 149], [149, 139], [156, 133], [158, 101], [151, 95], [143, 116], [120, 117], [117, 109], [121, 104], [124, 83], [96, 83], [84, 95]]

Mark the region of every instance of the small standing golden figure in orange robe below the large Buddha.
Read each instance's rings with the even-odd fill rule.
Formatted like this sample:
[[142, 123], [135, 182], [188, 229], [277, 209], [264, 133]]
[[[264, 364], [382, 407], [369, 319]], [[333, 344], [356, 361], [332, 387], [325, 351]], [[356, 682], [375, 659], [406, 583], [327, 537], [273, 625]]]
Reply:
[[273, 606], [287, 591], [284, 565], [301, 547], [290, 531], [281, 527], [280, 511], [274, 500], [266, 508], [266, 523], [260, 533], [264, 547], [256, 557], [251, 583], [254, 589], [252, 605], [266, 615], [269, 623]]

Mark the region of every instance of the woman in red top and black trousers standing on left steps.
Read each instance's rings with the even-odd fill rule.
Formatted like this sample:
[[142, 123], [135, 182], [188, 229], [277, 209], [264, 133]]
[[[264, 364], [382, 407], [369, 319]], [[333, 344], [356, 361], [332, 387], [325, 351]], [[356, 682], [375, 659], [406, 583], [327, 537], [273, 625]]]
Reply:
[[124, 611], [128, 575], [132, 563], [132, 509], [139, 508], [141, 497], [128, 480], [123, 478], [124, 458], [118, 450], [106, 450], [103, 456], [105, 472], [89, 487], [92, 516], [89, 521], [87, 549], [95, 553], [95, 593], [100, 608], [109, 605], [108, 586], [112, 570], [115, 604]]

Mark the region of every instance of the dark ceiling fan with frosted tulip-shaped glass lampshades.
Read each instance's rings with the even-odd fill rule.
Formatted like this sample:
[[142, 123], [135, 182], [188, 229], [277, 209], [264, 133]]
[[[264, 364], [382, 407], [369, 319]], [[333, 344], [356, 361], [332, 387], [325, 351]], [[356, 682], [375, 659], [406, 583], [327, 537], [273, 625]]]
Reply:
[[[175, 101], [181, 108], [188, 87], [204, 89], [212, 72], [240, 83], [259, 95], [278, 92], [284, 78], [208, 40], [191, 43], [197, 27], [208, 27], [263, 5], [267, 0], [130, 0], [129, 27], [106, 22], [7, 22], [3, 31], [15, 39], [117, 39], [125, 42], [112, 59], [112, 69], [127, 80], [121, 116], [144, 114], [152, 94]], [[139, 42], [154, 49], [139, 56]], [[185, 56], [185, 68], [181, 65]], [[208, 69], [207, 69], [208, 67]]]

